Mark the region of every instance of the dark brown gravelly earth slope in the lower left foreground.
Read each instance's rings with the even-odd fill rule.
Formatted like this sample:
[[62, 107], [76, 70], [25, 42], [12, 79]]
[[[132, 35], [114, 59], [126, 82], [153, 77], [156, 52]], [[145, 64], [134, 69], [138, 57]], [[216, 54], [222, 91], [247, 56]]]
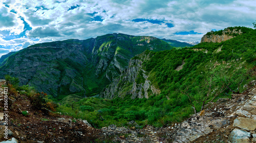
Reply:
[[[0, 90], [0, 112], [3, 113], [4, 94], [3, 89]], [[8, 138], [13, 142], [91, 142], [100, 134], [100, 130], [91, 127], [86, 120], [75, 120], [58, 113], [47, 113], [31, 108], [26, 95], [9, 96], [9, 100], [11, 102], [8, 107]], [[26, 116], [23, 111], [27, 111]], [[4, 118], [1, 113], [0, 121]], [[6, 140], [3, 135], [4, 128], [4, 121], [1, 121], [0, 141]]]

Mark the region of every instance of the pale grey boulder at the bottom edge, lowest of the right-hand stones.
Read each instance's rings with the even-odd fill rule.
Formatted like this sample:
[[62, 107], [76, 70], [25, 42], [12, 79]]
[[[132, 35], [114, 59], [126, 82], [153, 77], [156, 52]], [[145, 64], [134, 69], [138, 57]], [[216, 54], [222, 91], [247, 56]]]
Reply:
[[231, 131], [231, 133], [228, 135], [228, 140], [230, 142], [250, 142], [250, 132], [246, 132], [240, 129], [234, 129]]

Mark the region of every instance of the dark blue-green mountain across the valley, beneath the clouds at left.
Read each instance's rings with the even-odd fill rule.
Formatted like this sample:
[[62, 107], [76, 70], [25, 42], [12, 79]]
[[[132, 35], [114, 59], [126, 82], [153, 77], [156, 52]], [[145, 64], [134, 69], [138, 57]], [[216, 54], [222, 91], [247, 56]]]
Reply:
[[136, 54], [172, 48], [155, 37], [125, 34], [41, 43], [5, 59], [0, 76], [10, 74], [59, 99], [69, 94], [91, 96], [119, 76]]

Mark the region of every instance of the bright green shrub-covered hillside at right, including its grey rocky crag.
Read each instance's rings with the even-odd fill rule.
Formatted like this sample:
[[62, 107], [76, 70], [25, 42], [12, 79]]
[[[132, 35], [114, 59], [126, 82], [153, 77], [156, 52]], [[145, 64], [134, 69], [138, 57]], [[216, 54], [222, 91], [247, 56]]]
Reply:
[[[93, 109], [69, 114], [87, 119], [95, 127], [123, 126], [132, 120], [141, 127], [181, 122], [194, 113], [193, 106], [198, 112], [203, 101], [205, 108], [211, 100], [230, 98], [232, 93], [243, 92], [244, 85], [255, 79], [256, 31], [247, 30], [221, 43], [159, 52], [147, 50], [131, 59], [129, 68], [104, 89], [103, 97], [110, 99], [97, 97], [74, 102], [74, 110], [83, 106]], [[138, 65], [140, 61], [142, 64]], [[153, 93], [150, 88], [145, 91], [148, 84], [160, 93]], [[104, 102], [110, 105], [100, 108], [98, 104]], [[71, 110], [70, 103], [62, 103], [59, 111]]]

